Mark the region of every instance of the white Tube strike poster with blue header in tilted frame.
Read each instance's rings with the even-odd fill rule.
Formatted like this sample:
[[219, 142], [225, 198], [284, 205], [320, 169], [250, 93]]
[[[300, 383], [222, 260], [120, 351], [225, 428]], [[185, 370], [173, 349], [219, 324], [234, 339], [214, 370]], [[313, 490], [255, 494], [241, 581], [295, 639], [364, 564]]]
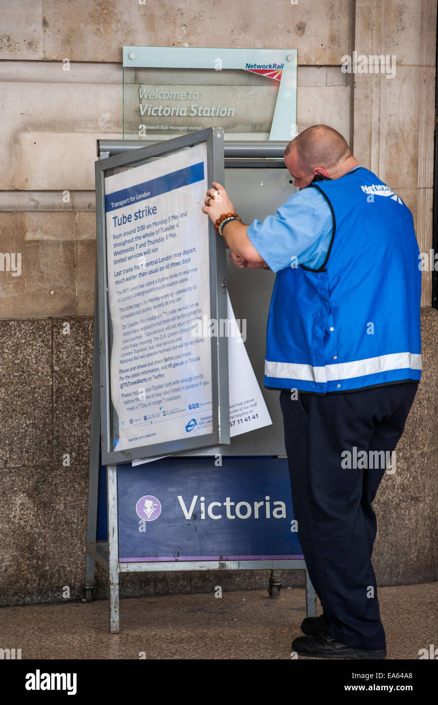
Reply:
[[114, 450], [213, 431], [206, 144], [105, 178]]

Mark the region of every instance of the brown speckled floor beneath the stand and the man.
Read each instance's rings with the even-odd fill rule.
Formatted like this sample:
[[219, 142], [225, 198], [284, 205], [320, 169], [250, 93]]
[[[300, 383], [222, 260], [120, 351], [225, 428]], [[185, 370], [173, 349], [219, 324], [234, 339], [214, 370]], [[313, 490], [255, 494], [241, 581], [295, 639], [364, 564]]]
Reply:
[[[387, 658], [438, 647], [438, 583], [380, 588], [379, 600]], [[108, 633], [106, 601], [6, 607], [0, 648], [22, 659], [287, 659], [304, 616], [303, 589], [275, 600], [264, 590], [124, 599], [118, 635]]]

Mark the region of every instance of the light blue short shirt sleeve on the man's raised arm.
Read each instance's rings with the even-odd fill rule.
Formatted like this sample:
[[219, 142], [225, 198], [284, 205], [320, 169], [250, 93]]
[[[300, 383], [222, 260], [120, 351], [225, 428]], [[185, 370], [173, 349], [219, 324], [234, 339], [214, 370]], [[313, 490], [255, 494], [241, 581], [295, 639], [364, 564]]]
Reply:
[[254, 220], [246, 232], [273, 271], [291, 264], [318, 269], [332, 239], [332, 211], [318, 189], [304, 188], [289, 197], [275, 216], [268, 216], [263, 223]]

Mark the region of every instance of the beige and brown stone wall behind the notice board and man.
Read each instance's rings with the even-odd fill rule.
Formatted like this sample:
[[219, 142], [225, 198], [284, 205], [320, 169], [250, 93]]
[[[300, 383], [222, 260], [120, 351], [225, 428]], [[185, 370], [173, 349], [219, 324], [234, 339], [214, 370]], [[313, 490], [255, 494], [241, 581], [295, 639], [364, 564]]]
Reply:
[[[0, 603], [82, 597], [94, 310], [94, 159], [122, 131], [123, 44], [298, 49], [298, 128], [327, 123], [413, 211], [432, 247], [433, 0], [15, 0], [0, 37]], [[342, 73], [342, 56], [396, 56], [396, 75]], [[68, 59], [70, 71], [63, 70]], [[382, 584], [437, 578], [437, 336], [423, 279], [425, 374], [376, 506]], [[65, 324], [70, 333], [65, 334]], [[70, 466], [63, 466], [63, 454]], [[99, 574], [98, 596], [105, 594]], [[301, 576], [284, 584], [298, 584]], [[123, 594], [206, 591], [212, 574], [124, 576]], [[221, 575], [224, 589], [268, 573]]]

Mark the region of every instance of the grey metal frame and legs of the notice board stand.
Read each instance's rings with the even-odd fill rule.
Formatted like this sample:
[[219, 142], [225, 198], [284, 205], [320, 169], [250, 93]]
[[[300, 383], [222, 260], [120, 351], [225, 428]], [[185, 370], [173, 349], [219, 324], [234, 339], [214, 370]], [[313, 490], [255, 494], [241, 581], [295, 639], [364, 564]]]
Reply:
[[[173, 140], [165, 140], [163, 143], [146, 143], [148, 149], [144, 149], [145, 142], [143, 140], [133, 141], [133, 140], [117, 140], [108, 142], [108, 146], [100, 145], [100, 150], [98, 156], [102, 159], [107, 159], [112, 154], [118, 154], [118, 166], [123, 167], [126, 162], [134, 161], [132, 154], [137, 152], [137, 149], [142, 149], [142, 154], [144, 159], [147, 159], [149, 154], [152, 157], [159, 156], [160, 148], [159, 145], [165, 145], [163, 147], [163, 152], [169, 151], [169, 144], [173, 142], [175, 149], [177, 147], [186, 147], [191, 144], [196, 144], [202, 140], [206, 140], [206, 134], [212, 140], [213, 152], [211, 154], [211, 159], [209, 161], [209, 171], [208, 173], [208, 186], [211, 185], [211, 181], [215, 180], [219, 183], [224, 183], [224, 152], [227, 156], [227, 150], [230, 150], [229, 157], [249, 157], [248, 161], [240, 161], [239, 166], [244, 166], [245, 168], [254, 168], [261, 166], [261, 161], [265, 157], [279, 158], [282, 157], [284, 152], [284, 144], [280, 142], [251, 142], [251, 143], [236, 143], [233, 142], [229, 147], [223, 145], [223, 131], [221, 128], [210, 128], [208, 130], [201, 130], [196, 134], [182, 135], [182, 137], [177, 137]], [[215, 137], [219, 137], [218, 142], [215, 142]], [[101, 141], [102, 142], [102, 141]], [[134, 144], [133, 144], [134, 142]], [[222, 151], [221, 151], [222, 149]], [[137, 153], [139, 154], [139, 153]], [[124, 157], [127, 157], [124, 159]], [[259, 159], [257, 162], [256, 159]], [[237, 160], [236, 160], [237, 161]], [[229, 166], [237, 166], [236, 161], [230, 161]], [[99, 164], [99, 163], [97, 163]], [[268, 162], [268, 166], [282, 167], [283, 164], [276, 164], [275, 161]], [[100, 164], [100, 168], [102, 166]], [[104, 212], [104, 200], [102, 198], [102, 193], [98, 195], [96, 190], [96, 216], [98, 228], [103, 228], [105, 212]], [[212, 227], [212, 224], [211, 224]], [[275, 598], [278, 596], [281, 582], [280, 582], [280, 570], [306, 570], [306, 564], [304, 558], [300, 557], [276, 557], [276, 558], [241, 558], [240, 556], [235, 559], [221, 560], [222, 556], [218, 557], [217, 560], [211, 560], [208, 557], [204, 557], [200, 560], [179, 560], [177, 557], [172, 560], [120, 560], [119, 556], [119, 497], [118, 497], [118, 465], [129, 462], [132, 458], [142, 458], [146, 457], [146, 453], [130, 453], [125, 451], [119, 456], [115, 453], [105, 452], [102, 454], [103, 464], [106, 466], [106, 483], [107, 483], [107, 510], [108, 510], [108, 540], [98, 540], [97, 539], [97, 520], [98, 520], [98, 502], [99, 502], [99, 471], [101, 466], [100, 460], [100, 448], [101, 443], [104, 448], [104, 441], [109, 442], [108, 438], [108, 407], [104, 410], [102, 409], [102, 400], [108, 401], [109, 391], [106, 390], [107, 396], [103, 393], [103, 388], [106, 386], [106, 380], [102, 379], [102, 371], [106, 372], [108, 370], [108, 360], [102, 360], [106, 355], [105, 345], [108, 344], [108, 337], [102, 336], [103, 328], [106, 329], [108, 325], [108, 309], [102, 306], [102, 300], [99, 301], [99, 290], [102, 293], [102, 266], [103, 263], [99, 262], [99, 252], [96, 256], [96, 296], [95, 296], [95, 309], [94, 309], [94, 363], [93, 363], [93, 391], [92, 391], [92, 429], [91, 429], [91, 441], [90, 441], [90, 464], [89, 464], [89, 501], [88, 501], [88, 524], [87, 524], [87, 558], [86, 558], [86, 575], [85, 575], [85, 599], [87, 601], [92, 601], [93, 592], [95, 587], [94, 572], [95, 563], [98, 563], [101, 568], [103, 568], [108, 575], [108, 603], [109, 603], [109, 631], [114, 634], [119, 632], [119, 576], [123, 572], [168, 572], [175, 570], [271, 570], [270, 583], [268, 586], [268, 591], [270, 597]], [[218, 279], [222, 285], [223, 290], [226, 288], [225, 278], [222, 276], [223, 271], [220, 269], [220, 257], [218, 257]], [[225, 298], [225, 297], [224, 297]], [[225, 309], [226, 317], [226, 306], [224, 301], [220, 301], [218, 296], [218, 302], [216, 302], [217, 311], [223, 312]], [[225, 306], [225, 308], [224, 308]], [[104, 317], [106, 319], [105, 326], [102, 326], [101, 319]], [[226, 342], [226, 341], [225, 341]], [[215, 403], [220, 405], [224, 400], [227, 400], [227, 374], [224, 373], [223, 369], [216, 370], [218, 373], [218, 395], [216, 395]], [[226, 372], [226, 371], [225, 371]], [[226, 419], [228, 423], [228, 419]], [[223, 419], [222, 422], [223, 424]], [[224, 427], [220, 427], [219, 424], [219, 442], [227, 443], [229, 442], [229, 436], [227, 436], [227, 431]], [[217, 441], [216, 441], [217, 442]], [[215, 443], [211, 442], [209, 445], [213, 446]], [[205, 444], [204, 444], [205, 445]], [[189, 446], [189, 448], [195, 448], [196, 446]], [[201, 443], [199, 443], [201, 447]], [[187, 448], [187, 450], [189, 450]], [[106, 446], [106, 451], [108, 450], [108, 445]], [[144, 448], [142, 449], [144, 450]], [[163, 448], [164, 450], [164, 448]], [[184, 447], [182, 451], [186, 450]], [[186, 455], [187, 455], [186, 450]], [[170, 448], [169, 453], [175, 455], [177, 450], [172, 450]], [[164, 454], [164, 453], [163, 453]], [[158, 455], [158, 453], [154, 453]], [[108, 456], [111, 460], [108, 462]], [[177, 458], [175, 458], [177, 461]], [[159, 462], [159, 461], [157, 461]], [[286, 461], [284, 461], [286, 462]], [[213, 465], [213, 463], [212, 463]], [[138, 471], [147, 473], [148, 465], [139, 466]], [[143, 471], [142, 471], [143, 468]], [[165, 478], [165, 474], [163, 474]], [[243, 503], [246, 504], [246, 503]], [[278, 503], [277, 503], [278, 504]], [[217, 517], [214, 517], [217, 518]], [[315, 616], [316, 615], [316, 595], [313, 586], [308, 578], [306, 571], [306, 615]]]

